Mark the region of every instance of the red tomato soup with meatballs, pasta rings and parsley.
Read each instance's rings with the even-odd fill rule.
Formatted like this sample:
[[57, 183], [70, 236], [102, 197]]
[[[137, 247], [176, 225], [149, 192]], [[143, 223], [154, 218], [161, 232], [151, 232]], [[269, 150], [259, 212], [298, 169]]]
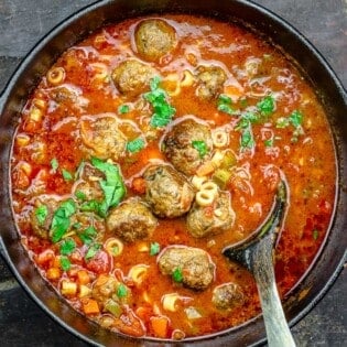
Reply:
[[336, 163], [310, 84], [271, 44], [207, 18], [129, 19], [66, 51], [22, 110], [11, 164], [29, 257], [65, 300], [132, 337], [183, 339], [260, 313], [221, 250], [279, 183], [279, 291], [325, 239]]

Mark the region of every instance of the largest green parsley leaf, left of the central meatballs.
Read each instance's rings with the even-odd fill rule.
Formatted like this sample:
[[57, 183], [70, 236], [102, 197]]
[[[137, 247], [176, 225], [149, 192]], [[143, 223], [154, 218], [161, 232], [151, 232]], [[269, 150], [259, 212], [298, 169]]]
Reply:
[[117, 206], [124, 196], [126, 185], [120, 175], [118, 165], [104, 162], [97, 158], [91, 158], [91, 164], [106, 176], [106, 180], [99, 182], [105, 198], [98, 206], [99, 215], [106, 217], [108, 209]]

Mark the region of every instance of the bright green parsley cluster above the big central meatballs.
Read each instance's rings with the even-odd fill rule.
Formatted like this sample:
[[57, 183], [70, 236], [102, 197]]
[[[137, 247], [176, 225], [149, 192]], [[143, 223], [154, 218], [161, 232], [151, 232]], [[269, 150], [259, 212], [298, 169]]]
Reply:
[[151, 91], [143, 95], [153, 107], [153, 115], [151, 118], [151, 126], [153, 128], [162, 128], [167, 126], [176, 109], [167, 102], [167, 94], [160, 87], [160, 77], [155, 76], [150, 82]]

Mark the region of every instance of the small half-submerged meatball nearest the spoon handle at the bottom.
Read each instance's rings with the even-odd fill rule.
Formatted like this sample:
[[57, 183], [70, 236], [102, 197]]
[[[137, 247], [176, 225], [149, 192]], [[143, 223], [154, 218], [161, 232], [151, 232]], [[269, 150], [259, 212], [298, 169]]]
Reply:
[[216, 286], [212, 301], [218, 310], [231, 310], [241, 306], [245, 296], [240, 286], [230, 282]]

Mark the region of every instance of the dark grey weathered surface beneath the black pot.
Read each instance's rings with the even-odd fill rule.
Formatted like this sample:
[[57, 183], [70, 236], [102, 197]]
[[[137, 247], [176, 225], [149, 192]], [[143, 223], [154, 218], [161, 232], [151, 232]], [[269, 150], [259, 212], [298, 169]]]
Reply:
[[[0, 90], [41, 36], [67, 15], [91, 2], [0, 0]], [[256, 2], [280, 14], [301, 31], [326, 57], [346, 87], [346, 0]], [[344, 269], [327, 295], [293, 328], [297, 346], [347, 346], [346, 274]], [[0, 346], [65, 345], [86, 346], [28, 297], [0, 258]]]

